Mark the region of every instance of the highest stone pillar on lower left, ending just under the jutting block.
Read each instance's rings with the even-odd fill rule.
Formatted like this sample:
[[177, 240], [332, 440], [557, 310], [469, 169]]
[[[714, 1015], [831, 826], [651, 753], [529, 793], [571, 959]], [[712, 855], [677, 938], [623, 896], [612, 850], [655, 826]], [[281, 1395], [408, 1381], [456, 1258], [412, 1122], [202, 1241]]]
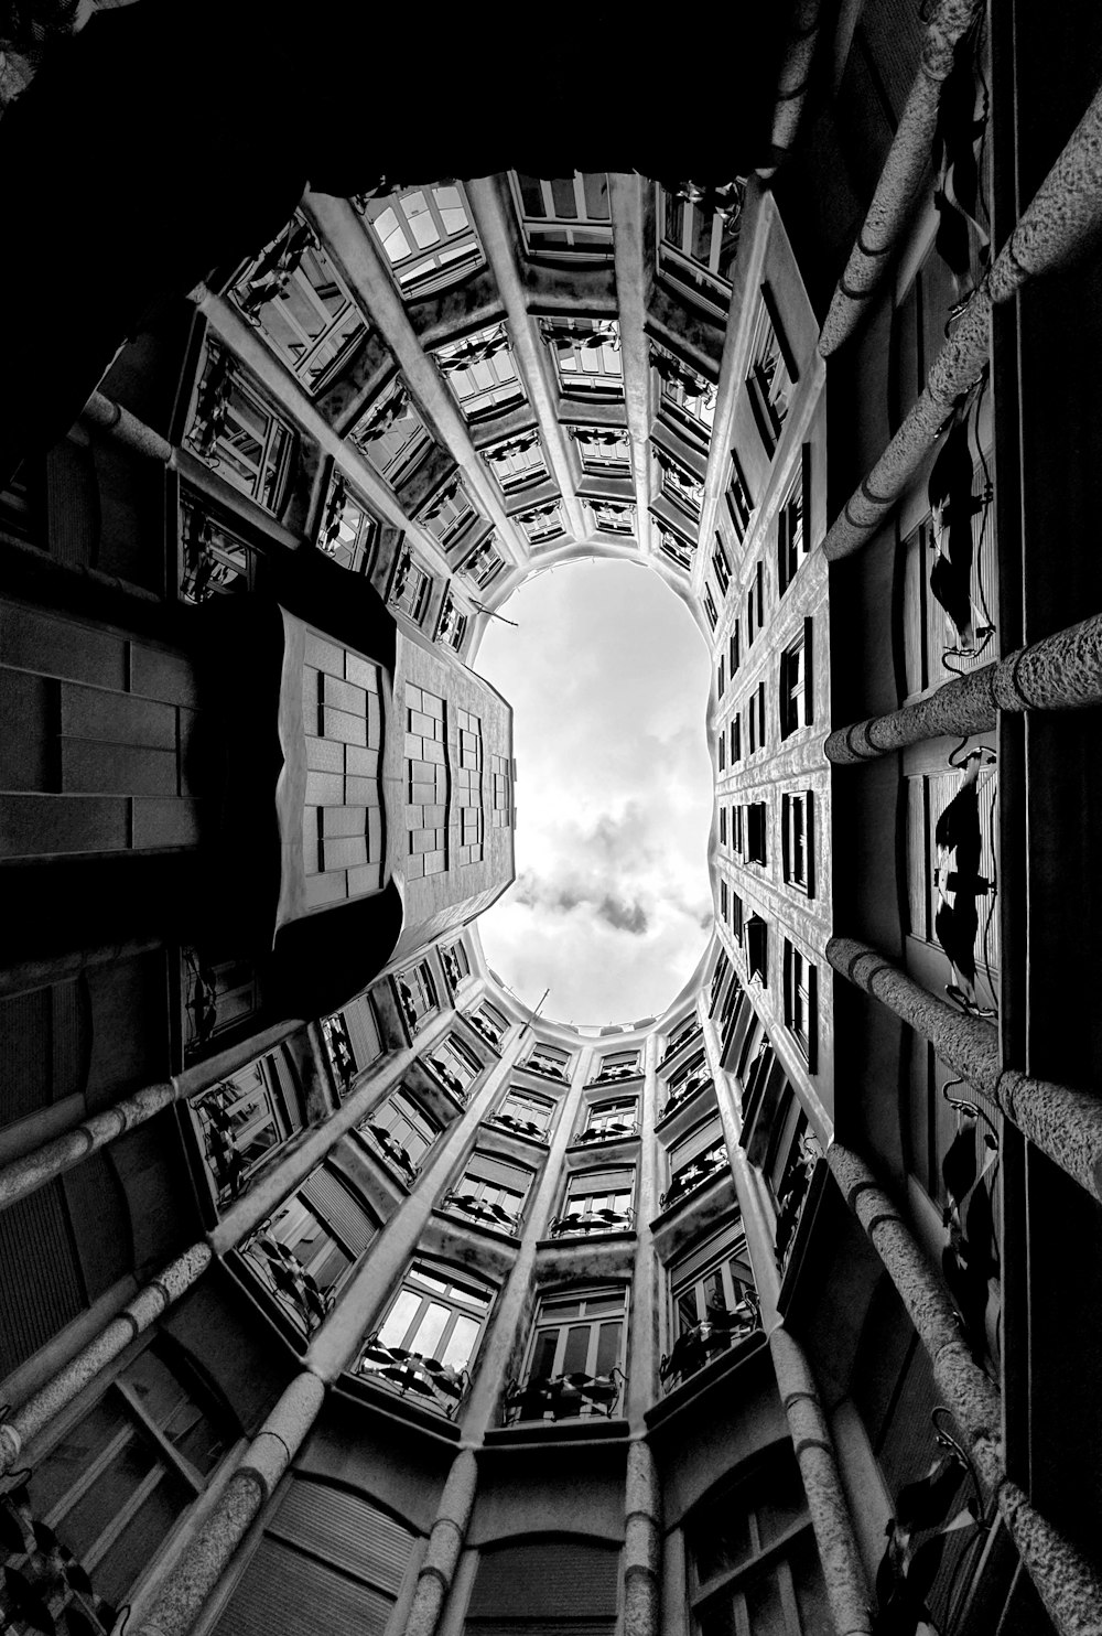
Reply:
[[26, 1198], [28, 1193], [34, 1193], [36, 1188], [52, 1181], [54, 1176], [60, 1176], [62, 1171], [72, 1170], [88, 1153], [95, 1153], [98, 1148], [106, 1147], [108, 1142], [114, 1142], [126, 1130], [146, 1124], [147, 1119], [152, 1119], [164, 1108], [172, 1106], [172, 1103], [193, 1096], [196, 1091], [224, 1080], [229, 1073], [235, 1073], [237, 1068], [244, 1068], [247, 1062], [252, 1062], [253, 1057], [262, 1055], [265, 1050], [271, 1050], [273, 1045], [278, 1045], [280, 1040], [286, 1039], [298, 1027], [301, 1027], [301, 1022], [280, 1022], [275, 1027], [265, 1029], [262, 1034], [253, 1036], [253, 1039], [219, 1052], [217, 1057], [208, 1057], [206, 1062], [196, 1063], [195, 1068], [185, 1068], [183, 1073], [173, 1075], [172, 1080], [165, 1080], [160, 1085], [146, 1085], [141, 1091], [134, 1091], [132, 1096], [124, 1096], [123, 1101], [114, 1103], [111, 1108], [103, 1108], [100, 1112], [90, 1114], [88, 1119], [82, 1119], [72, 1130], [43, 1142], [31, 1153], [13, 1158], [10, 1165], [0, 1168], [0, 1209], [7, 1204], [15, 1204], [16, 1199]]

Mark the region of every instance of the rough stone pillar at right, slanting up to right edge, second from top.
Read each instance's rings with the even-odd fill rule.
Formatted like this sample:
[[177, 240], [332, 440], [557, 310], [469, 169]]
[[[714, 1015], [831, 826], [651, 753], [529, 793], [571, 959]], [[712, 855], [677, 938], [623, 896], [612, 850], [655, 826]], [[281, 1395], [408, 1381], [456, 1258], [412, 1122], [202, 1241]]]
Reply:
[[867, 545], [937, 442], [953, 401], [979, 378], [988, 362], [991, 309], [1027, 278], [1081, 260], [1102, 227], [1102, 92], [1094, 97], [1063, 154], [996, 257], [950, 340], [945, 342], [919, 401], [888, 448], [831, 524], [822, 550], [831, 561]]

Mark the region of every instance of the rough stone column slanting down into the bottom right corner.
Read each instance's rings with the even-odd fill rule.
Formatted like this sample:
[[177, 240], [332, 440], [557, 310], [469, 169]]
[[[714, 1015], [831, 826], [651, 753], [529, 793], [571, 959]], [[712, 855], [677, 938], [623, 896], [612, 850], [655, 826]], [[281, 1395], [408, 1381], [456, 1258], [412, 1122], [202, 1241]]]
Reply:
[[945, 1289], [867, 1165], [834, 1144], [827, 1163], [885, 1263], [934, 1364], [934, 1379], [994, 1492], [1007, 1533], [1059, 1636], [1102, 1636], [1102, 1579], [1006, 1474], [999, 1391], [973, 1363]]

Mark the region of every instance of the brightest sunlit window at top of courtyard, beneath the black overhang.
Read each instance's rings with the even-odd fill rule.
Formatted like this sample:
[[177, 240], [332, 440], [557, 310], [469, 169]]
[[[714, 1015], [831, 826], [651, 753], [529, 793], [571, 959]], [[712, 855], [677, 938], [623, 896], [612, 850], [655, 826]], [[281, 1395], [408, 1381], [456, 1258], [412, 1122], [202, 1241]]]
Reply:
[[458, 183], [405, 188], [358, 203], [407, 298], [443, 290], [482, 262]]

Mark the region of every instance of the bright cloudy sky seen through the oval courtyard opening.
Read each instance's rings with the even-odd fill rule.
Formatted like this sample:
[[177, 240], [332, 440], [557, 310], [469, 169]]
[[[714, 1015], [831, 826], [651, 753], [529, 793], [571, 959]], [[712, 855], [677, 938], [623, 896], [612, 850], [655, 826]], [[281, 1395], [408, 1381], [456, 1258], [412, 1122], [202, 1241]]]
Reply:
[[711, 931], [710, 666], [649, 568], [567, 563], [491, 620], [474, 669], [513, 707], [517, 880], [479, 919], [491, 967], [558, 1022], [631, 1022]]

